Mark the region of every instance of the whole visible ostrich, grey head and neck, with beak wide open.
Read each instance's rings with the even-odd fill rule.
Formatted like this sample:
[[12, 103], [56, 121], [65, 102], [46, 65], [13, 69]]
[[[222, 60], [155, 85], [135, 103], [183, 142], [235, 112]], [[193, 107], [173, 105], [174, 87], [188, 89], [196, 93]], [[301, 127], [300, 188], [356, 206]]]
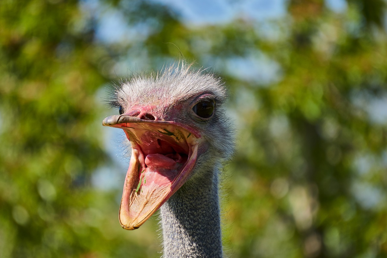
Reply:
[[123, 129], [132, 149], [120, 223], [137, 229], [161, 208], [164, 257], [223, 255], [218, 181], [234, 148], [226, 98], [219, 78], [184, 63], [112, 91], [120, 115], [103, 126]]

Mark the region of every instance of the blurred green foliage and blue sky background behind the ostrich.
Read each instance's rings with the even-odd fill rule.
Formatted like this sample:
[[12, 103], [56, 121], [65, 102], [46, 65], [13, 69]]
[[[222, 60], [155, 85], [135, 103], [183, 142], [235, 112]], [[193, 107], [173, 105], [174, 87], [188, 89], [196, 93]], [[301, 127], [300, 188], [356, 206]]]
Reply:
[[386, 3], [1, 0], [0, 257], [161, 255], [103, 99], [180, 53], [231, 92], [227, 256], [387, 257]]

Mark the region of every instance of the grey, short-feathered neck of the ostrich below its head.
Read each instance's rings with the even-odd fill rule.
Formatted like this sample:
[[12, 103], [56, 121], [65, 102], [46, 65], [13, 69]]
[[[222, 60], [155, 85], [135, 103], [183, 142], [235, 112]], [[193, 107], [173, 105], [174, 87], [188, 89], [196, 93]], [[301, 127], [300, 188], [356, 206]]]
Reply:
[[161, 206], [164, 257], [222, 257], [218, 172], [183, 185]]

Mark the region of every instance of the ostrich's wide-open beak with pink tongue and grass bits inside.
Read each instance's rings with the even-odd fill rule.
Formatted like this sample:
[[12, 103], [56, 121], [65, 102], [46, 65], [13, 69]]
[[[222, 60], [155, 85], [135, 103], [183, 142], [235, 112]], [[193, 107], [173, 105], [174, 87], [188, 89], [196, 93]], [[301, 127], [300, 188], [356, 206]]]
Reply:
[[124, 229], [138, 229], [189, 178], [200, 135], [176, 122], [125, 114], [106, 117], [102, 125], [123, 129], [132, 145], [120, 223]]

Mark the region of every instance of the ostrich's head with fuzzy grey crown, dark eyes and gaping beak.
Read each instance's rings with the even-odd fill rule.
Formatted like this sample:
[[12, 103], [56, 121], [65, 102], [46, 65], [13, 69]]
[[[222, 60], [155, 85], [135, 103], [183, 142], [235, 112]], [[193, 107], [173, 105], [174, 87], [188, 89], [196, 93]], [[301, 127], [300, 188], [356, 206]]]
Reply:
[[103, 125], [123, 129], [132, 148], [120, 205], [124, 229], [140, 227], [183, 185], [212, 180], [213, 168], [233, 152], [226, 97], [219, 78], [184, 64], [113, 90], [110, 103], [120, 115]]

